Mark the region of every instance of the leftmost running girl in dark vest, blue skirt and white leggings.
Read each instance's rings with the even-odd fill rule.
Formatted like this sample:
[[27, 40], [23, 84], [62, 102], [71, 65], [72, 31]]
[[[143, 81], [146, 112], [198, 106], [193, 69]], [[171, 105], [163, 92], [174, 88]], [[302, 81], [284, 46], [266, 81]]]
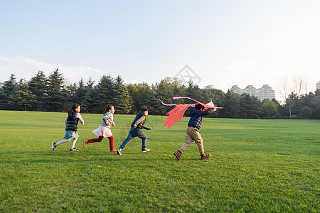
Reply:
[[73, 104], [73, 107], [68, 111], [68, 116], [65, 118], [65, 136], [63, 137], [65, 139], [56, 143], [52, 142], [52, 151], [54, 151], [57, 146], [71, 141], [71, 139], [73, 139], [73, 142], [71, 143], [70, 151], [78, 151], [78, 148], [75, 148], [75, 143], [79, 138], [77, 133], [78, 121], [80, 121], [82, 125], [85, 125], [85, 121], [83, 121], [80, 115], [80, 105]]

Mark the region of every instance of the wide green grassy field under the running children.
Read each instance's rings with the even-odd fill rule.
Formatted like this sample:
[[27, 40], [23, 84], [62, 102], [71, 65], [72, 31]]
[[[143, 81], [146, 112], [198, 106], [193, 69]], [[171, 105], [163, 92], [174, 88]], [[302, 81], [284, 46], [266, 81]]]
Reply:
[[[195, 143], [176, 160], [188, 118], [164, 129], [148, 116], [148, 153], [132, 140], [122, 155], [84, 138], [102, 115], [82, 114], [80, 138], [63, 139], [66, 113], [0, 111], [0, 212], [319, 212], [319, 120], [203, 119], [206, 152]], [[114, 148], [134, 115], [114, 115]]]

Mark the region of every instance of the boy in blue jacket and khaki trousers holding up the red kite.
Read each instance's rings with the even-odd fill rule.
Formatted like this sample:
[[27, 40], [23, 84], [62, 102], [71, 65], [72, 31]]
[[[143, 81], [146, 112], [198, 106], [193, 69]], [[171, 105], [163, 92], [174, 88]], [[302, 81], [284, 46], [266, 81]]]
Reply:
[[201, 128], [201, 124], [202, 124], [202, 116], [206, 116], [207, 114], [210, 114], [211, 112], [214, 111], [214, 109], [210, 108], [203, 111], [204, 108], [205, 107], [201, 104], [196, 104], [194, 108], [191, 108], [190, 110], [191, 118], [188, 123], [185, 143], [181, 146], [181, 148], [178, 149], [178, 151], [174, 153], [174, 155], [178, 160], [181, 160], [181, 153], [185, 151], [189, 146], [191, 146], [191, 143], [193, 141], [195, 141], [196, 144], [198, 145], [198, 149], [201, 155], [201, 160], [210, 158], [211, 154], [210, 153], [206, 154], [203, 151], [203, 139], [199, 133], [199, 129]]

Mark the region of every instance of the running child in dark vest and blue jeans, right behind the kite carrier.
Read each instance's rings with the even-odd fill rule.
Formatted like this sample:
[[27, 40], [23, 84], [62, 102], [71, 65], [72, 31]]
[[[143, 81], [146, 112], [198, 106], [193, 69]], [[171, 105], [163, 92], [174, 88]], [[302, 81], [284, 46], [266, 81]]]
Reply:
[[124, 149], [124, 147], [127, 146], [127, 144], [135, 137], [139, 137], [142, 139], [143, 153], [150, 151], [149, 148], [146, 148], [146, 134], [142, 131], [142, 129], [151, 130], [151, 128], [144, 126], [144, 123], [146, 122], [146, 116], [148, 116], [148, 108], [144, 106], [137, 113], [137, 116], [134, 118], [134, 121], [132, 121], [128, 137], [122, 142], [120, 147], [117, 149], [118, 155], [122, 155], [122, 150]]

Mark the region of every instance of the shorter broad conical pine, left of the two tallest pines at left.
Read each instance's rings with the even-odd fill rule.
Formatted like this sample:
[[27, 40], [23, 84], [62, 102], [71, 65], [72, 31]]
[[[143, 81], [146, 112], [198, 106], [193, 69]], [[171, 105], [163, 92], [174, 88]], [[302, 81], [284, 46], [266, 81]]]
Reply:
[[27, 107], [32, 106], [33, 99], [36, 95], [32, 94], [26, 80], [21, 79], [18, 83], [16, 92], [14, 92], [11, 97], [12, 104], [21, 106], [25, 111], [27, 111]]

